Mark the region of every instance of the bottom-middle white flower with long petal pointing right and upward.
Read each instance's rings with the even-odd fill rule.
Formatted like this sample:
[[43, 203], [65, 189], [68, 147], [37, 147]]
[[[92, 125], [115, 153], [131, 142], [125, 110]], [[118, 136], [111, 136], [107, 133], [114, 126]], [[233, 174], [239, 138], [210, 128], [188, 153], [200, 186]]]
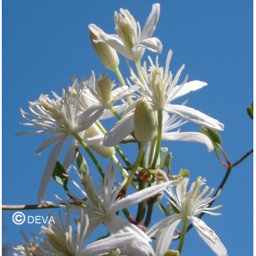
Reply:
[[[142, 200], [146, 200], [148, 197], [152, 197], [153, 195], [162, 192], [169, 186], [179, 184], [183, 179], [181, 178], [154, 185], [142, 191], [135, 192], [132, 195], [125, 197], [124, 199], [120, 199], [118, 195], [122, 191], [127, 178], [124, 179], [124, 182], [119, 187], [115, 187], [115, 180], [117, 177], [118, 169], [119, 162], [117, 163], [117, 169], [114, 171], [113, 162], [111, 160], [106, 170], [104, 179], [101, 177], [98, 192], [94, 188], [94, 180], [92, 174], [91, 176], [89, 176], [88, 173], [80, 176], [81, 183], [84, 185], [86, 192], [82, 191], [81, 188], [79, 188], [79, 190], [83, 193], [83, 196], [85, 196], [87, 200], [80, 200], [76, 195], [72, 194], [71, 192], [69, 193], [74, 200], [79, 202], [81, 205], [87, 206], [83, 207], [83, 209], [84, 212], [87, 213], [91, 223], [91, 230], [88, 230], [88, 234], [92, 233], [93, 230], [103, 222], [111, 235], [127, 232], [131, 232], [136, 235], [136, 239], [134, 239], [131, 244], [125, 245], [121, 248], [121, 250], [124, 252], [124, 255], [154, 255], [154, 251], [149, 244], [151, 239], [147, 237], [147, 235], [142, 230], [139, 230], [138, 227], [130, 222], [125, 221], [123, 218], [115, 214], [121, 209], [132, 207]], [[77, 187], [79, 187], [79, 185], [74, 181], [72, 182]], [[49, 202], [49, 204], [56, 205], [51, 202]], [[71, 209], [69, 211], [73, 213], [79, 213], [81, 209], [79, 205], [71, 205], [70, 207]]]

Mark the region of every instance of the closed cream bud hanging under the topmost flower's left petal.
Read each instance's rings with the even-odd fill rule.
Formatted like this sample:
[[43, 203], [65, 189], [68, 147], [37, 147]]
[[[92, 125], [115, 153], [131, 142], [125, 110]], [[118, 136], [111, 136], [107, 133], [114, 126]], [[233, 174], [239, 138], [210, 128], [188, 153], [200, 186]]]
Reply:
[[102, 64], [104, 64], [107, 69], [114, 71], [119, 65], [117, 51], [110, 47], [106, 42], [94, 42], [94, 40], [97, 40], [97, 36], [92, 31], [90, 32], [90, 39], [94, 47], [94, 51], [101, 59]]

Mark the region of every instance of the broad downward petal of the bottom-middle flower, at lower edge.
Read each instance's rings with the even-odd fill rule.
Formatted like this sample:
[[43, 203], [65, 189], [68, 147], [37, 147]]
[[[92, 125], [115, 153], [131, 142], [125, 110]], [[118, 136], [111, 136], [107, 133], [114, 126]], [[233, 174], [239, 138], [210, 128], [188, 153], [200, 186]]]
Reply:
[[109, 215], [109, 218], [104, 222], [110, 234], [130, 233], [136, 235], [136, 238], [131, 244], [123, 246], [121, 250], [126, 256], [154, 256], [153, 248], [149, 245], [151, 239], [139, 230], [135, 225], [122, 219], [117, 215]]

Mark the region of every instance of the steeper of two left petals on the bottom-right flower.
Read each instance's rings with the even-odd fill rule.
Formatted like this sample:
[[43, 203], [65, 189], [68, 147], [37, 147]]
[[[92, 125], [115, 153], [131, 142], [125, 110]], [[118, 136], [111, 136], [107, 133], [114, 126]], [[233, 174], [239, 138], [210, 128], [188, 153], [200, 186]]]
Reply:
[[169, 249], [169, 245], [172, 241], [172, 237], [177, 228], [177, 225], [182, 220], [177, 220], [169, 224], [165, 230], [163, 230], [160, 235], [156, 238], [154, 242], [154, 256], [162, 256], [164, 252]]

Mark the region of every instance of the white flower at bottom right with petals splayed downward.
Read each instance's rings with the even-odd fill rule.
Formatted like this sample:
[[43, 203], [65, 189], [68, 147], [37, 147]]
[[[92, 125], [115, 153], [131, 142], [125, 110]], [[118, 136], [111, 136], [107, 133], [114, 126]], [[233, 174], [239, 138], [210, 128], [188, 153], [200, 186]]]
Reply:
[[184, 219], [188, 219], [192, 222], [192, 225], [197, 230], [200, 237], [209, 245], [209, 247], [218, 256], [227, 256], [227, 250], [222, 245], [219, 237], [211, 230], [207, 224], [201, 221], [199, 218], [194, 217], [194, 215], [199, 215], [200, 213], [205, 213], [209, 215], [220, 215], [210, 212], [211, 210], [218, 209], [222, 206], [211, 207], [209, 204], [220, 196], [221, 190], [219, 190], [216, 196], [211, 199], [210, 196], [215, 191], [212, 189], [207, 197], [203, 199], [209, 187], [206, 186], [204, 190], [200, 193], [200, 188], [205, 184], [206, 179], [198, 177], [197, 181], [192, 183], [190, 191], [186, 194], [186, 187], [189, 182], [189, 178], [185, 178], [185, 182], [182, 184], [177, 184], [177, 195], [175, 194], [173, 188], [168, 188], [166, 192], [172, 197], [173, 200], [169, 200], [173, 207], [176, 207], [179, 214], [170, 215], [169, 217], [163, 219], [161, 222], [156, 223], [150, 230], [147, 231], [149, 237], [154, 237], [158, 235], [154, 243], [154, 251], [157, 252], [155, 256], [162, 256], [169, 248], [172, 241], [173, 234], [177, 228], [179, 222]]

